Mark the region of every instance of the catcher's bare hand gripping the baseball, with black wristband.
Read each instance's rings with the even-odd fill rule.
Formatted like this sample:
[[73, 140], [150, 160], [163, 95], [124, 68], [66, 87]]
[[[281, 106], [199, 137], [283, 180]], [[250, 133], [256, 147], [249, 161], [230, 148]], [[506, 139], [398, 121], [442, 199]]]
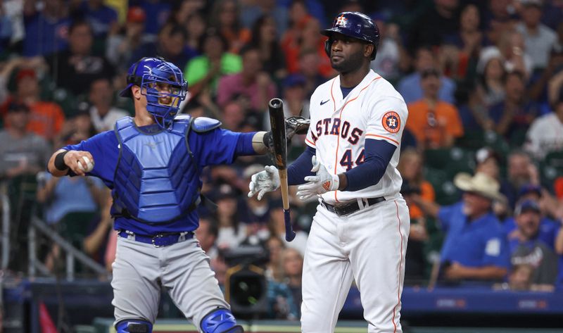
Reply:
[[88, 151], [67, 151], [59, 149], [49, 158], [49, 172], [55, 177], [62, 177], [71, 170], [76, 175], [85, 176], [94, 168], [94, 157]]

